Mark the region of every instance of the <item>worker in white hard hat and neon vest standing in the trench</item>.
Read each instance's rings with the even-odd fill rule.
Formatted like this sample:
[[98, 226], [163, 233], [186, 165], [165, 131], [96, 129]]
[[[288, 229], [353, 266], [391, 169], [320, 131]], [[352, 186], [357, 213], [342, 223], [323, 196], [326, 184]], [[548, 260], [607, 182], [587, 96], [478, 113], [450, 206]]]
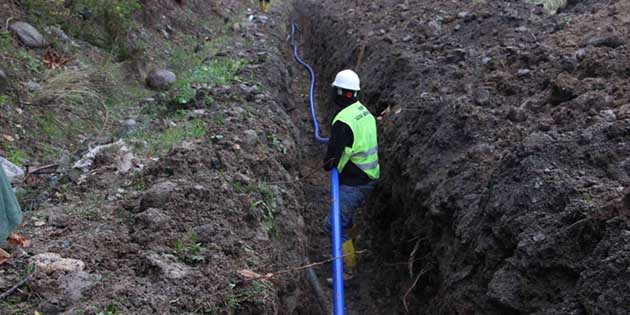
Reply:
[[[357, 264], [353, 216], [380, 177], [378, 140], [376, 119], [359, 102], [359, 76], [352, 70], [343, 70], [335, 77], [332, 89], [337, 113], [332, 121], [324, 169], [339, 170], [344, 278], [350, 279]], [[328, 231], [332, 229], [330, 215], [326, 217], [325, 227]]]

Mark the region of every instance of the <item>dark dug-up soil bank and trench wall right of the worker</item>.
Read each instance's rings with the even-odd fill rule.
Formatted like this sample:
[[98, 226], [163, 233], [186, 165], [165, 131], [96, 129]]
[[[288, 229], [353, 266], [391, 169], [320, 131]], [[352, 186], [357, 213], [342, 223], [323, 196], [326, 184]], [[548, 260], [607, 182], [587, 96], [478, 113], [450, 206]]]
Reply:
[[381, 116], [352, 311], [630, 314], [630, 6], [474, 2], [297, 8]]

